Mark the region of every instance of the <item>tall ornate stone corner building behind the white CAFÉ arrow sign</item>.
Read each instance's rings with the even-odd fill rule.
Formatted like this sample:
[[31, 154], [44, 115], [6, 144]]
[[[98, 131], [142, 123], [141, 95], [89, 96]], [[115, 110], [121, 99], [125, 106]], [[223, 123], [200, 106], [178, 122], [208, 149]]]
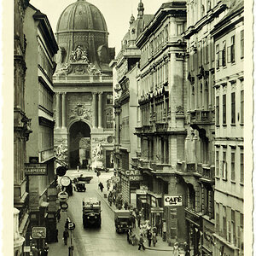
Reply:
[[186, 2], [170, 1], [160, 6], [136, 40], [141, 59], [137, 77], [140, 119], [135, 134], [141, 150], [131, 165], [143, 176], [137, 207], [152, 225], [162, 227], [163, 239], [170, 245], [185, 240], [183, 206], [171, 203], [183, 196], [182, 181], [175, 172], [186, 136], [185, 27]]

